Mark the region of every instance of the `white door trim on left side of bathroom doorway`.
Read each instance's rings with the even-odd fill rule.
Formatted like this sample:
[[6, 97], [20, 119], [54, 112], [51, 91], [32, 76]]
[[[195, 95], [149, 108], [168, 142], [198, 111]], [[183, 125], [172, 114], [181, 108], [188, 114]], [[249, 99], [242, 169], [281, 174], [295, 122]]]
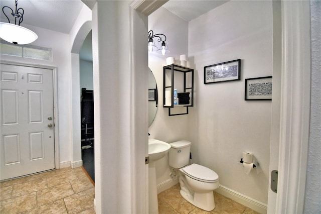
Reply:
[[[148, 53], [146, 40], [142, 38], [148, 32], [148, 15], [166, 2], [143, 0], [132, 1], [129, 5], [132, 213], [148, 213], [148, 164], [145, 165], [144, 159], [141, 159], [148, 156]], [[142, 77], [145, 78], [145, 84], [137, 84]]]

